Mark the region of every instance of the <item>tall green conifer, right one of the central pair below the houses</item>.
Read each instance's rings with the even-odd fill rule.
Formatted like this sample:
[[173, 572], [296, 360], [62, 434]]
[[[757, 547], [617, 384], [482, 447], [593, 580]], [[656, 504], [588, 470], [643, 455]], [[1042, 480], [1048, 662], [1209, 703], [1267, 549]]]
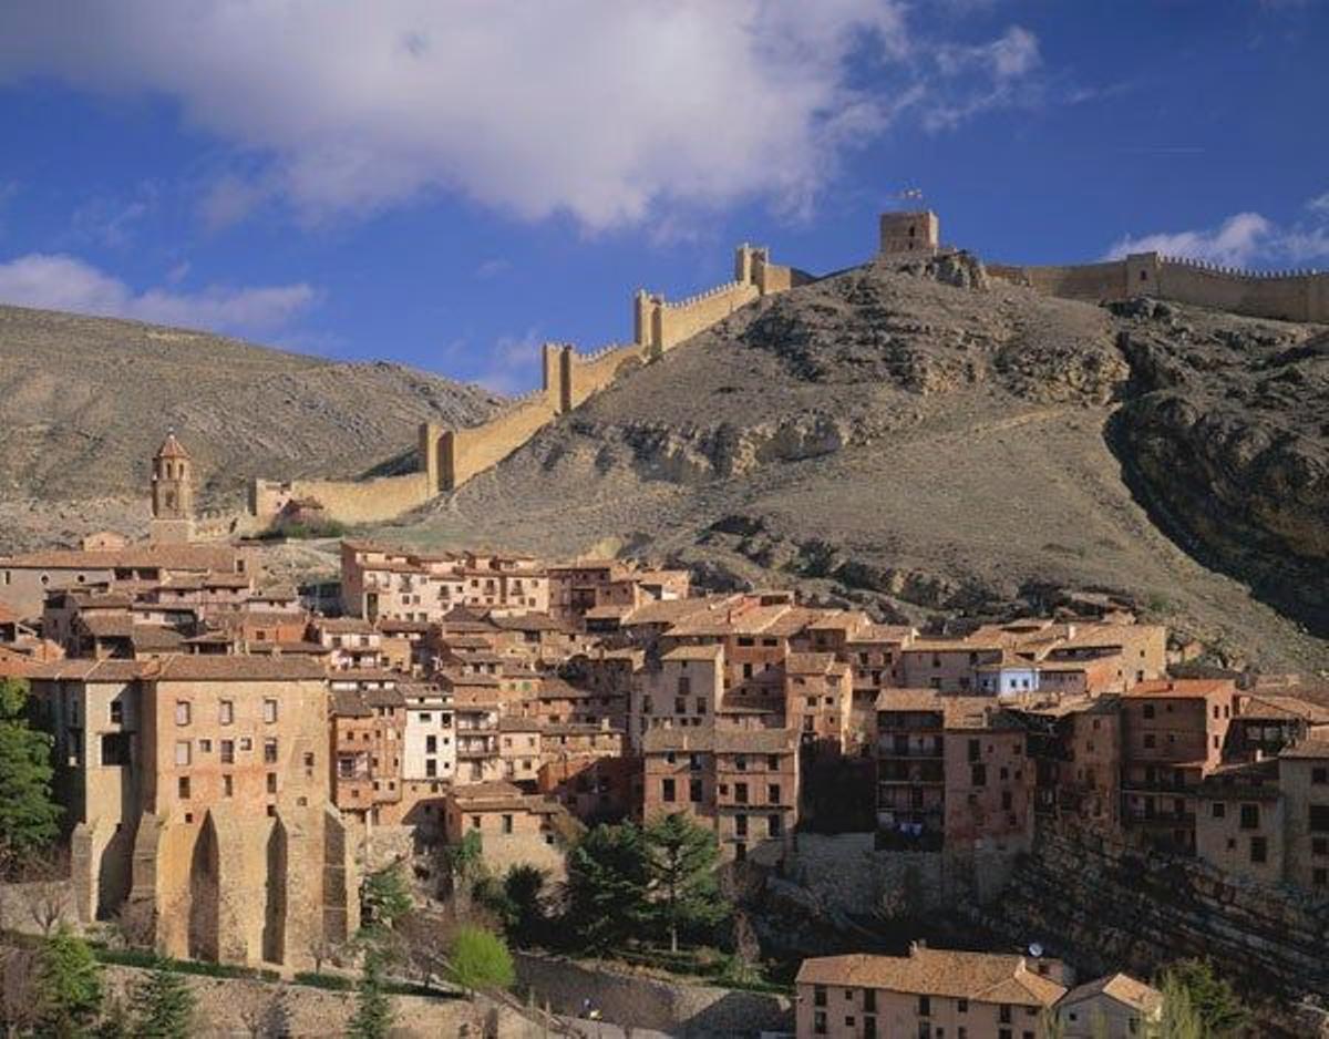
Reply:
[[719, 846], [715, 834], [682, 812], [653, 820], [645, 829], [651, 915], [678, 951], [678, 933], [714, 926], [728, 915], [715, 882]]

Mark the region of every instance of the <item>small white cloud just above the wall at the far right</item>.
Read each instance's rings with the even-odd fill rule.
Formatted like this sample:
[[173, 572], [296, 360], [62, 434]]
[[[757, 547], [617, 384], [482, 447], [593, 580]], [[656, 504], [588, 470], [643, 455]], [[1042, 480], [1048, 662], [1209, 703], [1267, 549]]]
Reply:
[[[1329, 217], [1329, 205], [1321, 207], [1321, 201], [1312, 199], [1306, 209]], [[1120, 259], [1128, 252], [1162, 252], [1223, 267], [1301, 264], [1329, 258], [1329, 222], [1282, 227], [1259, 213], [1237, 213], [1213, 229], [1123, 236], [1106, 259]]]

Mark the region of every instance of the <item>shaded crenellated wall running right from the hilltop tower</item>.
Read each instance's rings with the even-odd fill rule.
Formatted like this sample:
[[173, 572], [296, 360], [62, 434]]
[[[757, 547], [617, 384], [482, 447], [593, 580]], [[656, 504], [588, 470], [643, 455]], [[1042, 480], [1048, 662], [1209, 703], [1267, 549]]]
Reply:
[[1091, 303], [1144, 295], [1252, 318], [1329, 322], [1329, 274], [1314, 271], [1243, 271], [1138, 252], [1124, 260], [1062, 267], [997, 263], [987, 266], [987, 274], [1049, 296]]

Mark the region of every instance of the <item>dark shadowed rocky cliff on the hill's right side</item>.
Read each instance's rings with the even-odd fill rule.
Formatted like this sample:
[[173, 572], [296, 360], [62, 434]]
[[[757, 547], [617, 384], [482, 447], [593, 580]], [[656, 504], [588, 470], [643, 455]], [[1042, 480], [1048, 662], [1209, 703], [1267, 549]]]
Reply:
[[1118, 452], [1160, 522], [1329, 634], [1329, 333], [1123, 307]]

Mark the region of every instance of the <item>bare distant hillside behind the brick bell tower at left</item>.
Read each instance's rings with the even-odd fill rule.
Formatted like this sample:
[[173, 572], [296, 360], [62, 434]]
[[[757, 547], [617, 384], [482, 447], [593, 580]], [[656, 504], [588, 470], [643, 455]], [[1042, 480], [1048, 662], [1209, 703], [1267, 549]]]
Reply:
[[238, 504], [250, 476], [351, 476], [411, 445], [420, 421], [472, 424], [497, 404], [395, 364], [0, 306], [0, 550], [77, 533], [84, 517], [114, 525], [125, 501], [142, 504], [167, 426], [197, 460], [202, 501]]

